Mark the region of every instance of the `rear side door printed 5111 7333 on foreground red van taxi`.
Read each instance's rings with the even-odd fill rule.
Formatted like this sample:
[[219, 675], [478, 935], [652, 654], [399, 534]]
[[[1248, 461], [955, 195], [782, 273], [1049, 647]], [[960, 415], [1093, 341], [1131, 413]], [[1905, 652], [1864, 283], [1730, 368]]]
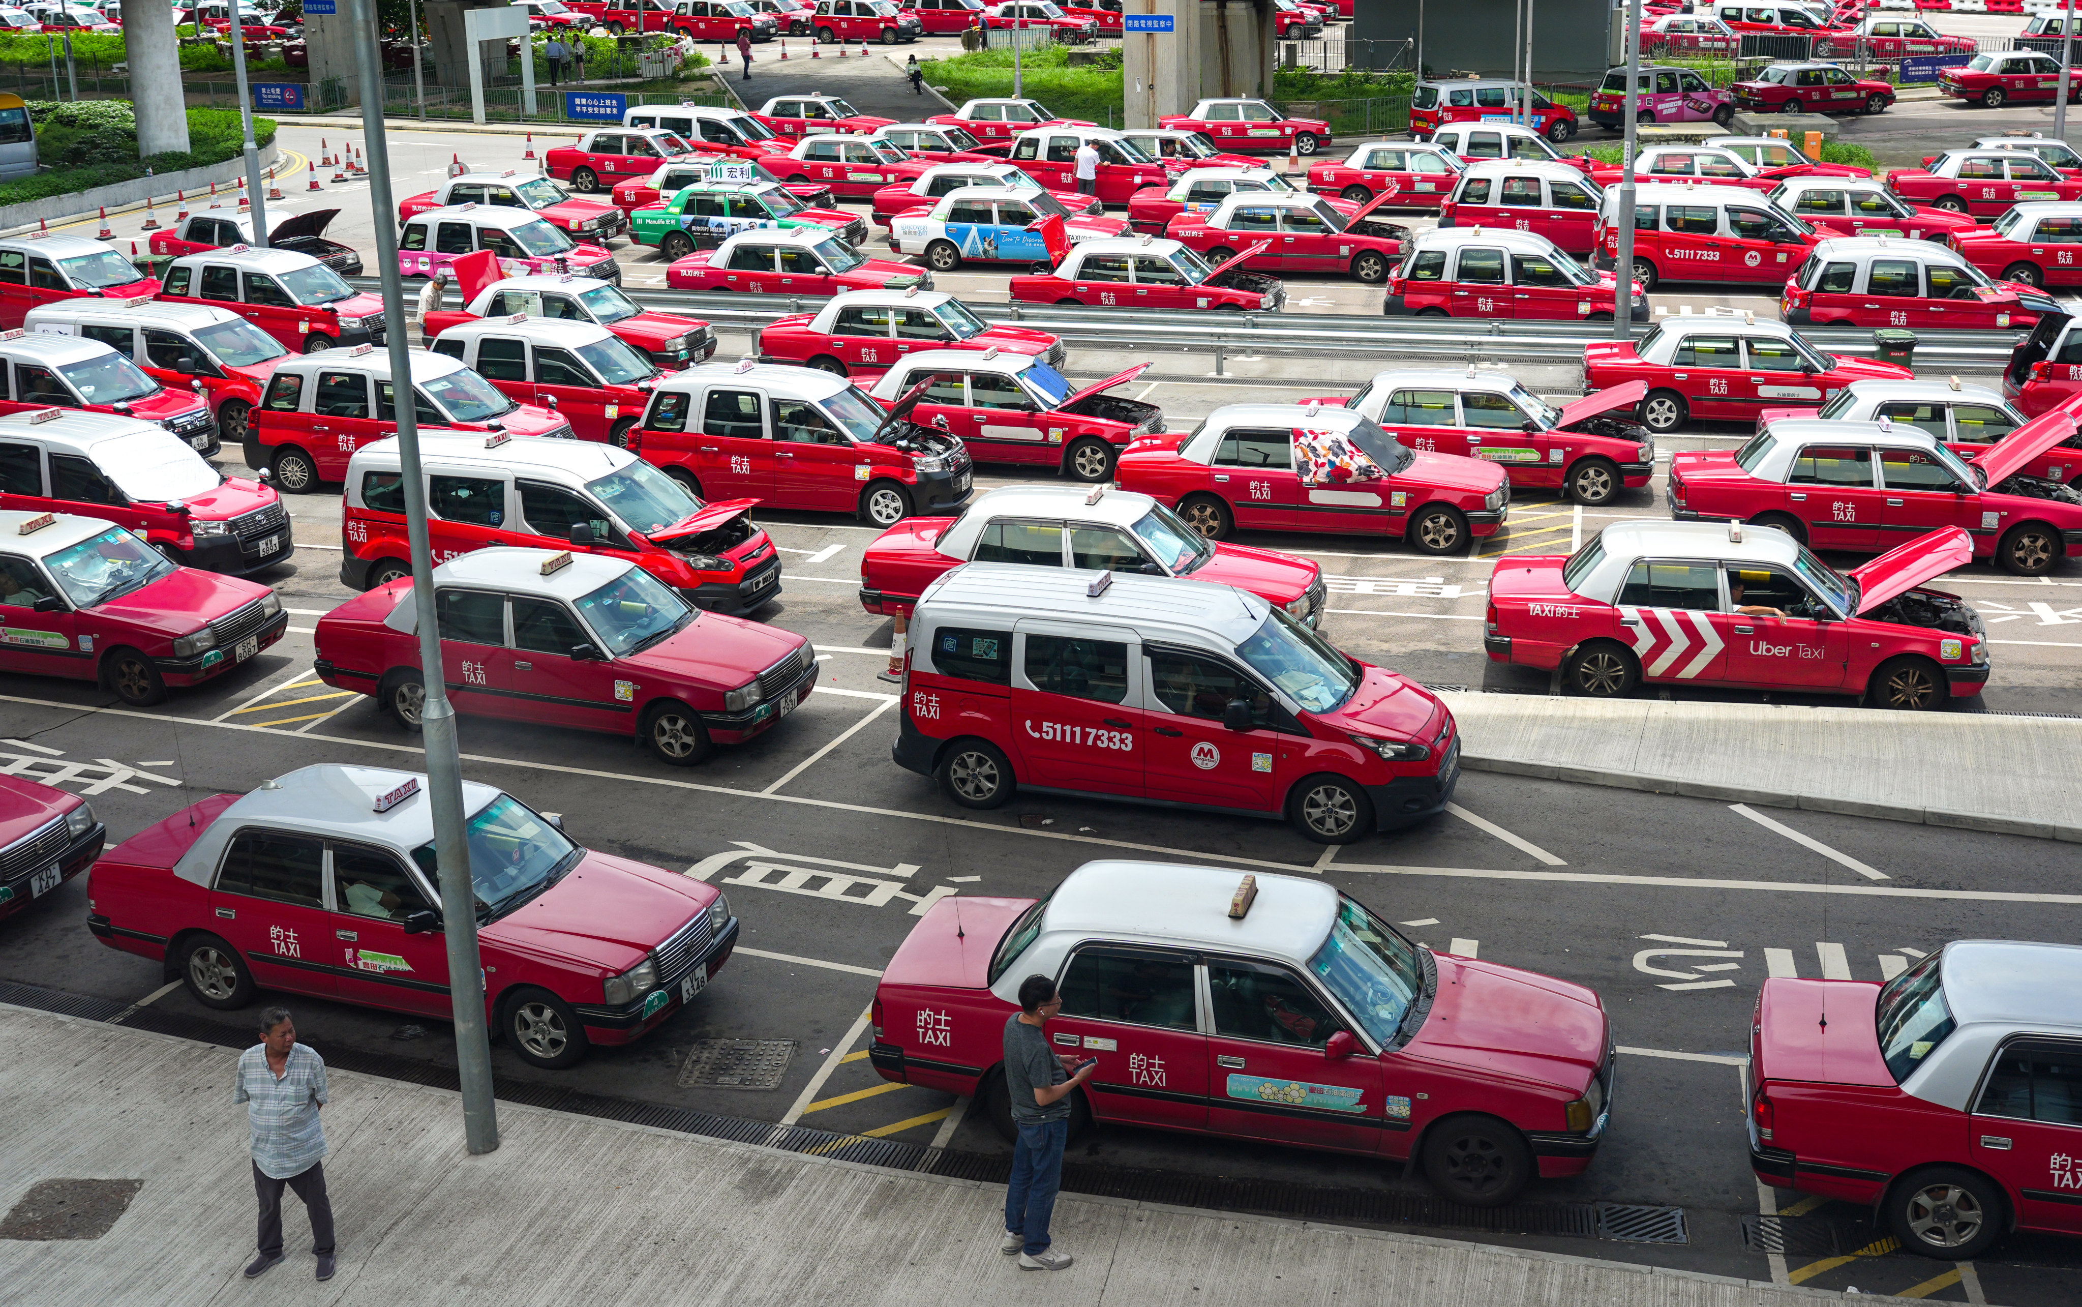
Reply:
[[1014, 645], [1012, 749], [1020, 783], [1143, 797], [1135, 633], [1026, 620]]

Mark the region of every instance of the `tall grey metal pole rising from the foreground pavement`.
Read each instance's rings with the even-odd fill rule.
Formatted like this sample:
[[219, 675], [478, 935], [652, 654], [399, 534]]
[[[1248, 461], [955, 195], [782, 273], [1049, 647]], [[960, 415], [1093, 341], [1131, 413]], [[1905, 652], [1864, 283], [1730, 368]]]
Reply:
[[471, 1153], [500, 1147], [491, 1101], [491, 1043], [485, 1030], [485, 970], [477, 953], [477, 889], [462, 828], [462, 760], [456, 753], [456, 708], [441, 685], [441, 635], [433, 614], [433, 558], [427, 552], [427, 483], [418, 464], [418, 418], [412, 395], [412, 350], [404, 333], [404, 281], [398, 275], [398, 212], [383, 139], [383, 58], [375, 0], [348, 0], [360, 44], [362, 148], [369, 154], [369, 202], [377, 212], [377, 277], [383, 283], [383, 335], [389, 343], [391, 414], [404, 472], [404, 522], [412, 554], [412, 608], [418, 616], [421, 739], [427, 745], [427, 801], [433, 808], [433, 849], [439, 866], [441, 930], [448, 937], [448, 997], [456, 1020], [456, 1066], [462, 1078], [462, 1132]]

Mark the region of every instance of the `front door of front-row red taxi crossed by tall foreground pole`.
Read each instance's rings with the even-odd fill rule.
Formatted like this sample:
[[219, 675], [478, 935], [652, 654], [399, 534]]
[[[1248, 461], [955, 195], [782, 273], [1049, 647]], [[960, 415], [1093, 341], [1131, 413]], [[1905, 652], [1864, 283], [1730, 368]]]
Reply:
[[406, 918], [435, 912], [389, 849], [327, 841], [333, 878], [335, 982], [346, 1003], [454, 1016], [448, 1001], [448, 937], [406, 934]]

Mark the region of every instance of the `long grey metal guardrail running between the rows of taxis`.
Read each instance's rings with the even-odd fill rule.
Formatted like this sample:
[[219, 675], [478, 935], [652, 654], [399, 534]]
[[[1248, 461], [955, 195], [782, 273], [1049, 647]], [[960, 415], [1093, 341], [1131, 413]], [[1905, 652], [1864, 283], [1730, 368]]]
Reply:
[[[381, 293], [373, 277], [350, 285]], [[629, 289], [643, 308], [679, 312], [714, 327], [754, 331], [787, 314], [816, 312], [827, 296], [743, 296], [666, 289]], [[1051, 331], [1072, 345], [1143, 348], [1214, 354], [1216, 377], [1230, 354], [1332, 356], [1332, 358], [1468, 358], [1468, 360], [1578, 360], [1582, 348], [1611, 339], [1607, 323], [1499, 323], [1466, 318], [1387, 318], [1364, 314], [1285, 312], [1164, 312], [1147, 308], [1093, 308], [1072, 304], [968, 304], [985, 323], [1018, 323]], [[1743, 318], [1724, 318], [1730, 331]], [[1647, 333], [1647, 325], [1634, 329]], [[1809, 327], [1801, 335], [1830, 354], [1878, 354], [1870, 329]], [[1920, 364], [1986, 373], [2009, 360], [2022, 331], [1918, 331]]]

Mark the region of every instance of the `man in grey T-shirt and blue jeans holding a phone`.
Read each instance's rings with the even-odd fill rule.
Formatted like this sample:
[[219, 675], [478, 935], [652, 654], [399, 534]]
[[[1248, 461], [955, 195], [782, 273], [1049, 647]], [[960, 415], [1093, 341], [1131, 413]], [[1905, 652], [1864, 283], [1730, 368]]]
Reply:
[[1076, 1093], [1097, 1057], [1058, 1057], [1041, 1026], [1062, 1011], [1062, 995], [1047, 976], [1020, 980], [1020, 1009], [1006, 1018], [1006, 1091], [1012, 1095], [1012, 1180], [1006, 1184], [1006, 1242], [999, 1251], [1020, 1255], [1022, 1272], [1060, 1272], [1068, 1253], [1049, 1247], [1047, 1224], [1062, 1188], [1062, 1149], [1070, 1143], [1070, 1095]]

